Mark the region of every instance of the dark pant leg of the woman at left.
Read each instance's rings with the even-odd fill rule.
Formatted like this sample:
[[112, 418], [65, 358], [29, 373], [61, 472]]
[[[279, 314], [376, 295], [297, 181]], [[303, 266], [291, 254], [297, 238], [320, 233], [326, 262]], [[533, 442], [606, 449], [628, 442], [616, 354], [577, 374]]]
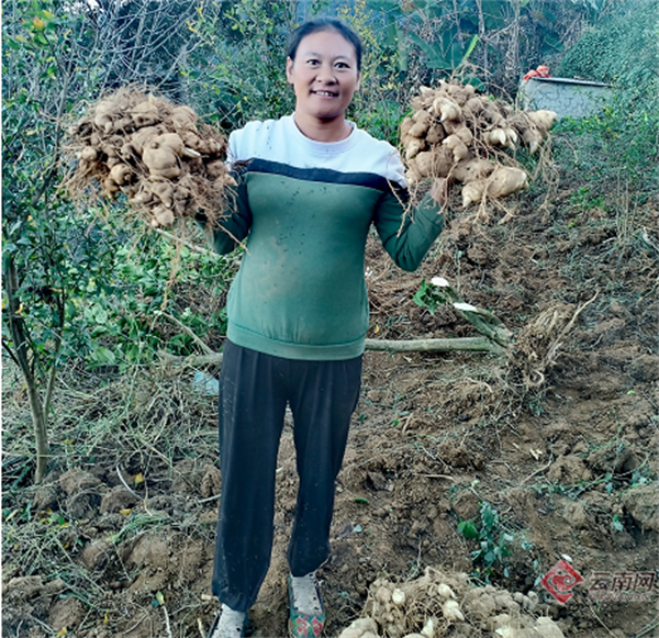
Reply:
[[256, 601], [270, 564], [286, 377], [281, 359], [226, 343], [220, 376], [222, 496], [213, 593], [241, 612]]

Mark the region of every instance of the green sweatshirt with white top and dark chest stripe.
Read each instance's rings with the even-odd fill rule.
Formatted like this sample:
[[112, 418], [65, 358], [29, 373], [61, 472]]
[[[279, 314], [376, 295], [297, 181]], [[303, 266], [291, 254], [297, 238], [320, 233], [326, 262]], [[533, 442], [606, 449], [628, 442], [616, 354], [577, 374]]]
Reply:
[[339, 360], [364, 352], [365, 246], [371, 223], [392, 259], [418, 267], [442, 231], [427, 198], [405, 215], [398, 152], [354, 128], [344, 141], [305, 137], [293, 117], [252, 122], [230, 137], [238, 174], [213, 243], [228, 253], [247, 237], [227, 301], [227, 337], [277, 357]]

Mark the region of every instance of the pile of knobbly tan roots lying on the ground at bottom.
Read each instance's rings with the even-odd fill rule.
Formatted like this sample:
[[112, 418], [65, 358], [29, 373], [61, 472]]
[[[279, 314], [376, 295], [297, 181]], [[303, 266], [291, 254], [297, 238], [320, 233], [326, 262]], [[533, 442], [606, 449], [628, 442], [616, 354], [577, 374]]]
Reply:
[[376, 580], [365, 617], [339, 638], [563, 638], [558, 625], [537, 611], [535, 592], [479, 587], [465, 573], [426, 568], [422, 577], [406, 583]]

